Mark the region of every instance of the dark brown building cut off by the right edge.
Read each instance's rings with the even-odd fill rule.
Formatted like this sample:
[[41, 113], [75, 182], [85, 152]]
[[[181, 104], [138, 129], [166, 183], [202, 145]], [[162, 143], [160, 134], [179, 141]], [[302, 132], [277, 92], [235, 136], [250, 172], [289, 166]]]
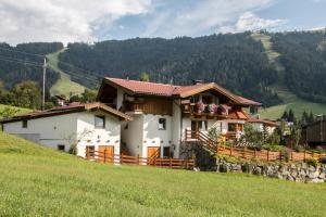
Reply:
[[318, 145], [326, 149], [325, 116], [322, 116], [318, 120], [302, 127], [300, 143], [311, 148], [316, 148]]

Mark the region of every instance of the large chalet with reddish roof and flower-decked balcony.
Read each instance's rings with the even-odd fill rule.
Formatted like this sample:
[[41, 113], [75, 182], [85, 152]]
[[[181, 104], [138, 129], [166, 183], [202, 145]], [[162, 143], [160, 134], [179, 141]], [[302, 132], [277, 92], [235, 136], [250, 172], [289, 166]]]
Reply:
[[97, 100], [133, 117], [122, 124], [121, 144], [141, 157], [180, 157], [186, 130], [214, 128], [236, 139], [249, 119], [242, 108], [261, 105], [214, 82], [174, 86], [120, 78], [104, 78]]

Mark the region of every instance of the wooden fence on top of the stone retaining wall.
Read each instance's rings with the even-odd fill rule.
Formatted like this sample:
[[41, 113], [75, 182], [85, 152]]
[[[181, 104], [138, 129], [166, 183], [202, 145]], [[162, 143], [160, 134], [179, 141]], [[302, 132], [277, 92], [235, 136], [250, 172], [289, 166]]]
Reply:
[[[273, 152], [267, 150], [256, 151], [256, 150], [249, 150], [247, 148], [233, 148], [233, 146], [224, 146], [224, 145], [218, 145], [217, 153], [229, 155], [229, 156], [241, 157], [241, 158], [248, 158], [248, 159], [256, 158], [266, 162], [285, 161], [286, 158], [283, 152]], [[326, 157], [326, 154], [318, 154], [309, 151], [288, 152], [288, 161], [290, 162], [302, 162], [305, 161], [306, 158], [315, 158], [318, 161], [321, 157]]]

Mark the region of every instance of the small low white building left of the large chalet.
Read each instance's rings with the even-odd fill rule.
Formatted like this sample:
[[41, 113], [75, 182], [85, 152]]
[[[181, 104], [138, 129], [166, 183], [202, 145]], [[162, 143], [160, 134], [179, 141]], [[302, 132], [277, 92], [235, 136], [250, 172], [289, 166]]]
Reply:
[[68, 151], [76, 144], [77, 155], [88, 151], [120, 154], [121, 123], [131, 118], [101, 103], [54, 107], [1, 120], [3, 131], [50, 146]]

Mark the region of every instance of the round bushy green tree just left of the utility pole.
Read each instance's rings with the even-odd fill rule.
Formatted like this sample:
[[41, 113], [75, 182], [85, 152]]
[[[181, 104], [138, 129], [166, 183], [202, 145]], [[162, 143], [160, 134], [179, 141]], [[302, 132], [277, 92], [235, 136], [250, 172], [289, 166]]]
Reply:
[[41, 90], [35, 81], [23, 81], [12, 89], [14, 105], [21, 107], [39, 108], [41, 105]]

